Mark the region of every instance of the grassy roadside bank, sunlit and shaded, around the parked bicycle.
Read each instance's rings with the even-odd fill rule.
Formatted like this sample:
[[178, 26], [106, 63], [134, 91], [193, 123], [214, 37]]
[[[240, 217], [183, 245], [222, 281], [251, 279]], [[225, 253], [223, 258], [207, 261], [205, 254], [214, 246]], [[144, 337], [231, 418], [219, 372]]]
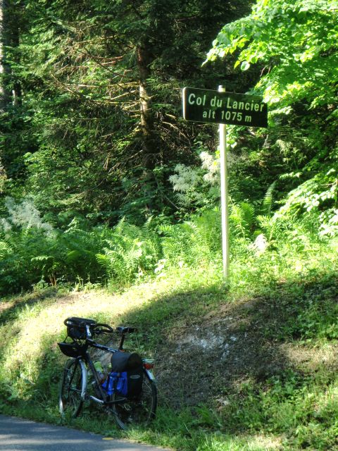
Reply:
[[[61, 423], [57, 393], [65, 359], [56, 342], [65, 335], [63, 319], [81, 315], [137, 325], [132, 346], [158, 363], [158, 416], [151, 428], [130, 431], [128, 438], [187, 451], [337, 450], [337, 266], [334, 241], [310, 243], [301, 252], [286, 243], [233, 261], [227, 285], [215, 259], [199, 270], [167, 268], [156, 280], [120, 292], [47, 289], [3, 299], [0, 411]], [[245, 360], [252, 351], [245, 369], [233, 366], [237, 373], [231, 374], [229, 366], [208, 360], [208, 352], [202, 368], [193, 348], [191, 362], [175, 362], [182, 337], [230, 316], [237, 321], [232, 335], [246, 337], [238, 357]], [[274, 367], [269, 353], [278, 358]], [[250, 366], [254, 358], [261, 369]], [[169, 364], [171, 396], [161, 386]], [[180, 364], [191, 364], [189, 388], [180, 385]], [[229, 378], [220, 376], [223, 368]], [[206, 378], [208, 395], [187, 402]], [[104, 412], [88, 407], [71, 426], [126, 436]]]

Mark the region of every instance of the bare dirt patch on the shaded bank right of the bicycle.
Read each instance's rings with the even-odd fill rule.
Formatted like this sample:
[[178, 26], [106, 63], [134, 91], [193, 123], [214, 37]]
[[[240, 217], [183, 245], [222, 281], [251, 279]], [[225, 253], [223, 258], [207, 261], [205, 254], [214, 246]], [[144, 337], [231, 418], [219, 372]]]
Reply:
[[310, 347], [268, 337], [279, 319], [273, 304], [254, 299], [222, 305], [199, 323], [175, 328], [157, 350], [159, 392], [173, 407], [211, 397], [224, 403], [244, 381], [264, 382], [286, 369], [306, 373], [323, 364], [337, 369], [333, 345], [313, 353]]

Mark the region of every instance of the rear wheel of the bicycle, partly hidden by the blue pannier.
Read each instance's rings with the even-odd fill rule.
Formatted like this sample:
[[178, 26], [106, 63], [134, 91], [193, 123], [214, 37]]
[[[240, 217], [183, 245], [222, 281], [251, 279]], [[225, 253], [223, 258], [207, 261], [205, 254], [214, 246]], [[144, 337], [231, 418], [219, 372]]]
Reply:
[[[122, 400], [119, 395], [113, 393], [112, 400]], [[126, 400], [121, 404], [113, 404], [111, 410], [116, 424], [127, 431], [134, 426], [146, 426], [156, 416], [157, 387], [144, 371], [142, 393], [137, 400]]]

